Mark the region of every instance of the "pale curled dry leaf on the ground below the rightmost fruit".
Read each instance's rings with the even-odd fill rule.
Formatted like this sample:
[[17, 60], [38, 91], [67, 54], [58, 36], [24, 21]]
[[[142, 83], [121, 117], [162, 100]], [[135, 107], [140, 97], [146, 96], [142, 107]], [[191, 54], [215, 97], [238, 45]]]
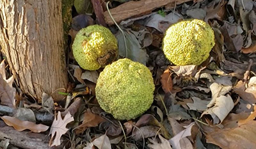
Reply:
[[234, 102], [230, 95], [221, 95], [220, 97], [216, 98], [214, 106], [204, 111], [201, 117], [205, 114], [210, 114], [214, 124], [221, 123], [226, 118], [228, 113], [230, 113], [233, 107]]

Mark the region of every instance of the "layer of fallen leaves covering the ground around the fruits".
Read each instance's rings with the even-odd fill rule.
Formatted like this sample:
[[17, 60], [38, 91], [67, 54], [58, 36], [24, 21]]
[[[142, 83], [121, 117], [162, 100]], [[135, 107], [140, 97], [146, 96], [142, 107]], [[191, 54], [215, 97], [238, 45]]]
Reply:
[[[136, 5], [145, 2], [145, 7]], [[1, 119], [17, 131], [51, 135], [45, 140], [51, 148], [255, 148], [255, 11], [252, 0], [116, 0], [108, 5], [75, 0], [70, 45], [83, 27], [109, 27], [118, 39], [120, 58], [139, 61], [151, 70], [154, 103], [135, 120], [115, 120], [95, 98], [102, 69], [82, 70], [70, 49], [70, 84], [60, 102], [45, 93], [40, 101], [22, 95], [13, 87], [13, 77], [7, 79], [10, 74], [2, 61]], [[108, 20], [110, 14], [116, 24]], [[189, 18], [208, 22], [216, 44], [202, 65], [173, 66], [161, 50], [164, 32]], [[10, 143], [4, 140], [0, 146]]]

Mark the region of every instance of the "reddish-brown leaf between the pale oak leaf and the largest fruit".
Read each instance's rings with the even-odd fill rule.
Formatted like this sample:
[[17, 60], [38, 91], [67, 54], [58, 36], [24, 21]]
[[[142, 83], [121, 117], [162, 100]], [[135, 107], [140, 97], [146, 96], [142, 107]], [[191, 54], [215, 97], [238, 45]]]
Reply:
[[88, 109], [84, 113], [84, 120], [83, 123], [76, 127], [76, 134], [81, 134], [86, 130], [88, 127], [96, 127], [99, 123], [106, 121], [104, 118], [99, 116], [98, 114], [94, 114]]

